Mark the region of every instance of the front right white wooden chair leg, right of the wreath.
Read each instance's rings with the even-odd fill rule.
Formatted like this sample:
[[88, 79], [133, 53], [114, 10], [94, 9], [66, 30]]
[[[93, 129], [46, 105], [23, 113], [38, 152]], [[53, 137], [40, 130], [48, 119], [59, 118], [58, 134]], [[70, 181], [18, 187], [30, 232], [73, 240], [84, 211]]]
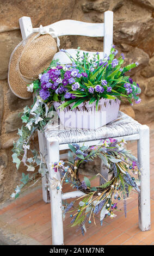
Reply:
[[140, 193], [139, 193], [139, 228], [150, 230], [150, 157], [149, 157], [149, 127], [139, 128], [138, 161], [140, 164]]

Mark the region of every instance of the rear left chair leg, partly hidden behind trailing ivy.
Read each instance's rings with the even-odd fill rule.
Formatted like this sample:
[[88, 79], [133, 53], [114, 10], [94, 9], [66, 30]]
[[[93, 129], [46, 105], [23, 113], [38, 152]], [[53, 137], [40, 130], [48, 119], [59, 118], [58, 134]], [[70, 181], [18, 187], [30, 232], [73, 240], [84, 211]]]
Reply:
[[[46, 149], [46, 138], [44, 137], [43, 133], [38, 130], [38, 138], [39, 138], [39, 150], [43, 157], [45, 157]], [[50, 194], [47, 190], [47, 178], [46, 175], [42, 176], [42, 197], [45, 203], [50, 203]]]

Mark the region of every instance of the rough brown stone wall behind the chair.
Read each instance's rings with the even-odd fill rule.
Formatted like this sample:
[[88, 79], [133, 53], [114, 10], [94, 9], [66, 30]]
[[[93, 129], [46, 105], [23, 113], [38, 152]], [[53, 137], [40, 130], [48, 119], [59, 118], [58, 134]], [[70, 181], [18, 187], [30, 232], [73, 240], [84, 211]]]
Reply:
[[[11, 52], [21, 41], [19, 18], [30, 16], [33, 27], [74, 19], [85, 22], [103, 22], [103, 12], [114, 11], [114, 44], [124, 52], [127, 62], [139, 62], [130, 75], [141, 87], [139, 105], [124, 103], [122, 111], [141, 123], [150, 123], [154, 118], [154, 1], [153, 0], [0, 0], [0, 201], [9, 198], [16, 187], [21, 167], [16, 173], [11, 160], [11, 148], [17, 138], [21, 109], [31, 100], [18, 99], [11, 93], [8, 83], [8, 63]], [[63, 36], [61, 48], [102, 51], [102, 38]]]

